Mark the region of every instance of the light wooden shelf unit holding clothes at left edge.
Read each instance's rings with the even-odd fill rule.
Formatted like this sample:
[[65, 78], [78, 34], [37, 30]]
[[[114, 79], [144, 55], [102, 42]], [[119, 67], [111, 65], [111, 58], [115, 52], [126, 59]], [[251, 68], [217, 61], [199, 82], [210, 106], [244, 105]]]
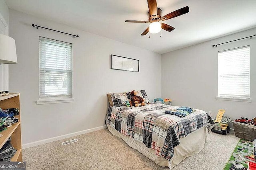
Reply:
[[[0, 107], [2, 109], [18, 108], [20, 111], [20, 94], [13, 93], [7, 96], [0, 96]], [[17, 123], [12, 124], [8, 129], [0, 132], [3, 136], [0, 137], [0, 149], [11, 137], [11, 144], [14, 149], [17, 149], [16, 154], [12, 157], [11, 161], [22, 162], [22, 148], [21, 148], [21, 131], [20, 131], [20, 112], [19, 115], [14, 116], [19, 119]]]

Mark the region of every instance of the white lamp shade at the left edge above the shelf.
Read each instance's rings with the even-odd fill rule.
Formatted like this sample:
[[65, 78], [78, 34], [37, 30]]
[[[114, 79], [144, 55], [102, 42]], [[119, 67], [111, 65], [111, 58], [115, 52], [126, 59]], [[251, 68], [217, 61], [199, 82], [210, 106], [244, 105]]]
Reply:
[[17, 63], [15, 40], [3, 34], [0, 34], [0, 63]]

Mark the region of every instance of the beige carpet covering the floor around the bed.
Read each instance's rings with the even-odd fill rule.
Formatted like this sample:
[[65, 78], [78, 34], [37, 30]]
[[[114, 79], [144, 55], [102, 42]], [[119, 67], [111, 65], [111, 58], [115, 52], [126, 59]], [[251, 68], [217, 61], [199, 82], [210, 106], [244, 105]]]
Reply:
[[[61, 142], [78, 139], [77, 143]], [[172, 170], [222, 170], [238, 143], [234, 133], [210, 132], [199, 154], [188, 157]], [[23, 150], [28, 170], [168, 170], [158, 166], [107, 129]]]

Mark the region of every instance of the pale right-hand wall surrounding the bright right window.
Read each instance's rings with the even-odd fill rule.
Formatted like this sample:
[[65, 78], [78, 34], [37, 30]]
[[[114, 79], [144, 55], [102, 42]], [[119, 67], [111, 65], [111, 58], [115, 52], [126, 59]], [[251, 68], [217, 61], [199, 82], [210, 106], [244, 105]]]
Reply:
[[[250, 29], [226, 37], [163, 54], [161, 57], [161, 96], [171, 98], [176, 106], [213, 111], [226, 109], [233, 119], [256, 117], [256, 38], [243, 39], [218, 47], [214, 44], [255, 35]], [[251, 103], [216, 100], [218, 87], [218, 51], [250, 45]], [[232, 127], [232, 125], [231, 125]]]

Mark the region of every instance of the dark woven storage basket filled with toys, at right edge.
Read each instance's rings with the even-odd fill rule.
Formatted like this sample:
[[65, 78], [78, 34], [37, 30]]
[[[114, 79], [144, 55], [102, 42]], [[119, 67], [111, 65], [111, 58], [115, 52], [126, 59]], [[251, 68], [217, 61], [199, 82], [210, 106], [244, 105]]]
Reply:
[[256, 139], [256, 126], [247, 125], [236, 121], [232, 122], [234, 125], [236, 137], [245, 139], [247, 141], [254, 141], [254, 139]]

